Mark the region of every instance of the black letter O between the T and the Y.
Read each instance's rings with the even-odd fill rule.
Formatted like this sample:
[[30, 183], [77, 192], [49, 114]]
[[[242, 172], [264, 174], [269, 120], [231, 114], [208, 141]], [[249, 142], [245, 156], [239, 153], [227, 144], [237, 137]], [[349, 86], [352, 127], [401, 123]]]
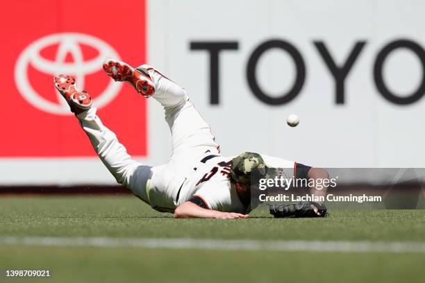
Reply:
[[[297, 78], [295, 79], [295, 83], [292, 89], [290, 90], [290, 92], [282, 94], [278, 98], [273, 98], [265, 94], [265, 92], [263, 92], [263, 90], [260, 89], [260, 87], [258, 86], [256, 78], [256, 68], [260, 56], [263, 55], [265, 51], [272, 48], [280, 48], [287, 51], [291, 55], [292, 59], [295, 62], [295, 66], [297, 67]], [[294, 99], [301, 91], [305, 78], [306, 65], [304, 65], [304, 61], [301, 57], [301, 54], [297, 49], [295, 49], [292, 44], [283, 40], [269, 40], [267, 42], [264, 42], [263, 44], [260, 44], [260, 46], [258, 46], [253, 51], [251, 57], [248, 60], [247, 80], [249, 87], [251, 88], [253, 94], [257, 96], [258, 99], [260, 99], [260, 101], [263, 101], [264, 103], [267, 103], [269, 105], [281, 105], [292, 101], [292, 99]]]

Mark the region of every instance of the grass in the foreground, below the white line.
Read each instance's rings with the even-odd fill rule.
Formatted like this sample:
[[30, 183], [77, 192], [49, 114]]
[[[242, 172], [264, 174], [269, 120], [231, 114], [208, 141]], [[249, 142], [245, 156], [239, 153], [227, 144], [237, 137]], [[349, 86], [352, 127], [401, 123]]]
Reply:
[[423, 282], [424, 259], [387, 253], [10, 246], [0, 253], [5, 268], [49, 268], [51, 279], [45, 282]]

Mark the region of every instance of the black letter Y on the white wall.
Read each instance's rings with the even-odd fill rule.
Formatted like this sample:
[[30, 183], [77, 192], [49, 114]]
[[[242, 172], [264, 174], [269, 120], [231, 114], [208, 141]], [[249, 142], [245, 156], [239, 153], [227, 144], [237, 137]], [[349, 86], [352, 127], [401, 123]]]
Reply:
[[322, 55], [322, 58], [326, 63], [326, 66], [328, 66], [329, 71], [331, 71], [333, 78], [335, 78], [336, 103], [344, 104], [344, 80], [347, 78], [347, 74], [349, 73], [351, 67], [353, 67], [354, 62], [356, 62], [356, 59], [360, 54], [360, 51], [362, 51], [363, 47], [365, 46], [366, 42], [356, 43], [347, 61], [345, 61], [342, 67], [338, 67], [335, 64], [335, 61], [332, 59], [331, 54], [329, 53], [328, 49], [326, 49], [326, 46], [323, 42], [313, 43], [315, 44], [320, 55]]

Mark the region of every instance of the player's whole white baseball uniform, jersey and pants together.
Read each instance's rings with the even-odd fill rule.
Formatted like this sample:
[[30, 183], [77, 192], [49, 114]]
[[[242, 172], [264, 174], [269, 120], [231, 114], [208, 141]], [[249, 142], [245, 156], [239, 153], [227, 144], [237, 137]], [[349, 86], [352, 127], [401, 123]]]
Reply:
[[[148, 73], [156, 89], [153, 98], [163, 105], [172, 132], [172, 156], [167, 164], [154, 167], [132, 160], [116, 135], [103, 126], [96, 108], [91, 108], [77, 118], [103, 164], [117, 182], [158, 211], [173, 212], [195, 195], [210, 209], [246, 213], [247, 207], [230, 182], [233, 157], [220, 155], [210, 126], [194, 108], [185, 89], [158, 71], [149, 69]], [[267, 166], [295, 166], [281, 158], [262, 157]]]

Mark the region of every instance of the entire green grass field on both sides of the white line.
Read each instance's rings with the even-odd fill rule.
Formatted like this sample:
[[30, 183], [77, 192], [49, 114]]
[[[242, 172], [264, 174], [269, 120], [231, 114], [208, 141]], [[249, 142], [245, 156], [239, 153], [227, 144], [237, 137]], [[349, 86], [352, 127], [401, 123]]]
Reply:
[[[425, 210], [335, 210], [320, 219], [174, 219], [133, 196], [3, 197], [0, 238], [108, 237], [425, 243]], [[0, 244], [5, 270], [36, 282], [424, 282], [424, 252], [311, 252]]]

